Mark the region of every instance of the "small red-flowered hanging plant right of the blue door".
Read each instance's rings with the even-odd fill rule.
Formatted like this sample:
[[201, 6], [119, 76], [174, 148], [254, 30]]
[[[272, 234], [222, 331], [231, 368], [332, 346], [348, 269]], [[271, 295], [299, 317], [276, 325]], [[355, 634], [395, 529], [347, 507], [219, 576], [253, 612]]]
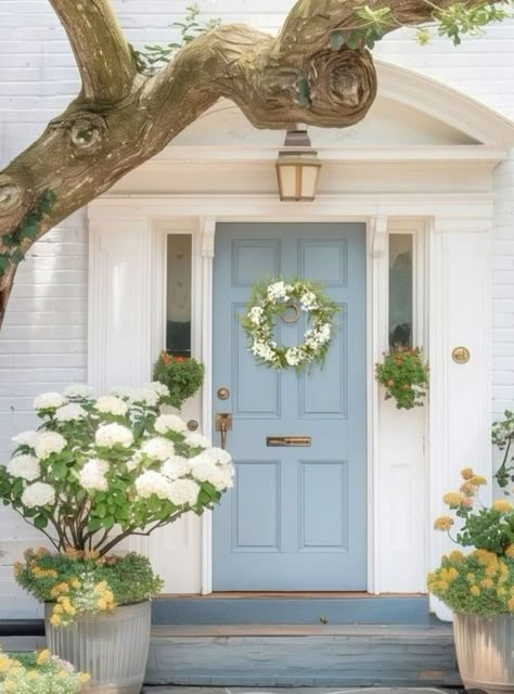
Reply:
[[375, 367], [376, 380], [385, 388], [385, 399], [394, 398], [398, 410], [423, 406], [428, 388], [428, 365], [420, 347], [395, 347], [384, 352]]

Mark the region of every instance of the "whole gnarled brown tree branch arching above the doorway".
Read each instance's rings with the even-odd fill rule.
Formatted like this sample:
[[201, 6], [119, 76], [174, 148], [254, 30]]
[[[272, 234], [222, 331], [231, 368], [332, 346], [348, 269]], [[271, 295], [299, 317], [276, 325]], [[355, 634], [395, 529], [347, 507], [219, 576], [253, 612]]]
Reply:
[[[0, 324], [20, 256], [34, 241], [160, 152], [221, 97], [257, 128], [285, 129], [296, 123], [351, 126], [365, 117], [376, 95], [371, 53], [362, 42], [350, 49], [345, 40], [362, 27], [356, 13], [360, 0], [298, 0], [277, 38], [243, 25], [219, 27], [152, 77], [136, 72], [110, 0], [50, 1], [68, 34], [83, 87], [0, 174]], [[435, 10], [452, 2], [371, 0], [370, 5], [390, 8], [387, 33], [429, 22]], [[15, 254], [12, 242], [3, 241], [44, 191], [55, 203], [37, 235]]]

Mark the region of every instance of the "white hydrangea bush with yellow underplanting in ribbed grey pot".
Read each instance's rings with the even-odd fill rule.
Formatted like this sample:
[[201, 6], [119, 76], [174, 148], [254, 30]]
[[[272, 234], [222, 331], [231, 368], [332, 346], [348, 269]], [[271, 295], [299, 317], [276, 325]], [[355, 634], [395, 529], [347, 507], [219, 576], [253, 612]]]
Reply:
[[229, 453], [162, 413], [168, 397], [160, 383], [100, 398], [82, 386], [43, 394], [35, 401], [41, 425], [14, 437], [0, 465], [3, 503], [52, 550], [27, 551], [16, 579], [46, 604], [52, 653], [91, 674], [88, 692], [140, 692], [150, 600], [162, 589], [146, 557], [113, 551], [131, 535], [202, 514], [232, 486]]

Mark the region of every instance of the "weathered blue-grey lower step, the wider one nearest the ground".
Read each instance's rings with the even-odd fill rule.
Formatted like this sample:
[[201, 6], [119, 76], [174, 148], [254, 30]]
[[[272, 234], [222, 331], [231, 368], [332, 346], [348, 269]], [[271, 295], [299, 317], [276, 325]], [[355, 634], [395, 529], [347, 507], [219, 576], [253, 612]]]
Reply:
[[461, 681], [450, 625], [162, 625], [153, 629], [146, 684], [397, 687]]

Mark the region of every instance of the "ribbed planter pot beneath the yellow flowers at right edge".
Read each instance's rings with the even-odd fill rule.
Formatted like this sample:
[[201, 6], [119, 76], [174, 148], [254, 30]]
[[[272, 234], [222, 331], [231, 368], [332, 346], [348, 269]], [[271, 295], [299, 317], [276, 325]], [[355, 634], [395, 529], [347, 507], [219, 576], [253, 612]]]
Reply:
[[453, 615], [457, 659], [467, 690], [514, 692], [514, 616]]

